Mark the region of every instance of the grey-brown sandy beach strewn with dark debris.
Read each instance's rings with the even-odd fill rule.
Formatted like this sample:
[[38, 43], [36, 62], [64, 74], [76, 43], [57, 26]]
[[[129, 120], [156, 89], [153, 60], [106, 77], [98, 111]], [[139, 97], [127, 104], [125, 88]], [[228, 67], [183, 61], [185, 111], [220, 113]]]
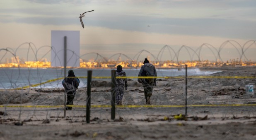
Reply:
[[[209, 68], [204, 68], [208, 70]], [[212, 69], [212, 68], [211, 68]], [[211, 76], [255, 76], [256, 67], [222, 67]], [[40, 139], [256, 139], [256, 94], [247, 94], [245, 85], [256, 84], [255, 78], [188, 78], [188, 105], [185, 105], [185, 79], [159, 79], [151, 105], [145, 103], [143, 87], [128, 80], [123, 105], [116, 107], [111, 119], [110, 107], [92, 107], [90, 123], [86, 108], [66, 111], [63, 89], [0, 90], [0, 105], [49, 105], [51, 107], [0, 107], [0, 140]], [[91, 105], [111, 105], [108, 81], [92, 82]], [[78, 89], [74, 105], [86, 105], [87, 89]], [[254, 89], [255, 91], [255, 89]], [[237, 104], [238, 106], [226, 106]], [[220, 106], [224, 105], [224, 106]], [[7, 115], [3, 115], [6, 112]], [[19, 125], [20, 124], [20, 125]], [[22, 125], [21, 125], [22, 124]]]

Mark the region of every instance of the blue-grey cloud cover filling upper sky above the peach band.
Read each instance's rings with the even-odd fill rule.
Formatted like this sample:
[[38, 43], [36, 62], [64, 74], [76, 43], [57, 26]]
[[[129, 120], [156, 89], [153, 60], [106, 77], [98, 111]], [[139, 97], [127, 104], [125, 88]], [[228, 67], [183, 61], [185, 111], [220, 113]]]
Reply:
[[[82, 2], [82, 3], [81, 3]], [[77, 25], [85, 9], [85, 26], [114, 30], [254, 39], [255, 7], [236, 0], [27, 0], [0, 6], [0, 22], [41, 25]], [[249, 3], [255, 3], [248, 0]], [[12, 5], [13, 4], [13, 5]], [[224, 6], [223, 6], [223, 5]], [[12, 5], [12, 6], [10, 6]], [[20, 5], [20, 6], [19, 6]], [[249, 8], [248, 8], [249, 7]], [[148, 28], [148, 25], [150, 28]]]

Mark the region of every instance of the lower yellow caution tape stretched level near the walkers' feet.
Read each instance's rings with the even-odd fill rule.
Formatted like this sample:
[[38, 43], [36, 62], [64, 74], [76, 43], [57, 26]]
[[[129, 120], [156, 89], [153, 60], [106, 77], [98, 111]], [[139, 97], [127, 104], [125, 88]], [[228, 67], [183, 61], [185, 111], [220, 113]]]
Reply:
[[[66, 105], [67, 107], [80, 107], [85, 108], [86, 105]], [[214, 104], [214, 105], [187, 105], [187, 107], [229, 107], [229, 106], [256, 106], [256, 104]], [[0, 105], [0, 107], [35, 107], [35, 108], [56, 108], [64, 107], [64, 105]], [[91, 108], [99, 107], [112, 107], [111, 105], [91, 105]], [[116, 105], [115, 107], [127, 107], [127, 108], [137, 108], [137, 107], [186, 107], [186, 105]]]

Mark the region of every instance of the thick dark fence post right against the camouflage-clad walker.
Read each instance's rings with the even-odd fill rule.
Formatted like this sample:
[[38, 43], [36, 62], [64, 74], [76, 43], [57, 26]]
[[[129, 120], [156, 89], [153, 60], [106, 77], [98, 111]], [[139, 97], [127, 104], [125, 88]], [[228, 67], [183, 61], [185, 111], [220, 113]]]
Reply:
[[111, 70], [111, 119], [115, 119], [116, 110], [116, 70]]

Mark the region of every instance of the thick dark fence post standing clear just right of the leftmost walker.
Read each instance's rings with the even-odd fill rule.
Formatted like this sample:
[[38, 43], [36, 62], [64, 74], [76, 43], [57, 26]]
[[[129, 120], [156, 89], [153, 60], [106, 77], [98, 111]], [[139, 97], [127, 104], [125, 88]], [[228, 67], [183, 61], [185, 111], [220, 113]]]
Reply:
[[86, 123], [90, 123], [92, 70], [87, 71]]

